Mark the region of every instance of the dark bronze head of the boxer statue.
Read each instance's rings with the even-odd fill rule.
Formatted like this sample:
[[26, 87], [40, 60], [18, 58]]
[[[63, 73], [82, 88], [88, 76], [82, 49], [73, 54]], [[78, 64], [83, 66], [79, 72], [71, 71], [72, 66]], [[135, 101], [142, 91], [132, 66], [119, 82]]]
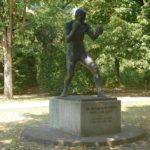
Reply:
[[85, 17], [86, 17], [86, 11], [84, 9], [79, 8], [79, 9], [76, 10], [76, 12], [75, 12], [76, 20], [84, 22]]

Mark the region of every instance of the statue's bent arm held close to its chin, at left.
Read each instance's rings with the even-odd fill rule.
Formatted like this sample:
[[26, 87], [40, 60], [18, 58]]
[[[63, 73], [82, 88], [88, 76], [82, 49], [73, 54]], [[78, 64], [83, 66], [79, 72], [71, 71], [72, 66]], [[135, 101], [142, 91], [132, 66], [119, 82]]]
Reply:
[[79, 23], [77, 21], [75, 21], [72, 25], [72, 30], [70, 31], [69, 30], [69, 26], [68, 24], [65, 25], [65, 39], [67, 42], [70, 42], [72, 40], [72, 38], [74, 37], [76, 31], [78, 30], [79, 28]]

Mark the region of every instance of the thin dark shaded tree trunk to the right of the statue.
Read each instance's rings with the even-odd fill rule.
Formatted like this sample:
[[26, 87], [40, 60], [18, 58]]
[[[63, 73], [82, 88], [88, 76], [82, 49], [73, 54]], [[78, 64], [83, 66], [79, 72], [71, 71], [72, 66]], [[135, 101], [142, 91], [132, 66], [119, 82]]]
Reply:
[[115, 57], [115, 83], [116, 87], [120, 86], [120, 61]]

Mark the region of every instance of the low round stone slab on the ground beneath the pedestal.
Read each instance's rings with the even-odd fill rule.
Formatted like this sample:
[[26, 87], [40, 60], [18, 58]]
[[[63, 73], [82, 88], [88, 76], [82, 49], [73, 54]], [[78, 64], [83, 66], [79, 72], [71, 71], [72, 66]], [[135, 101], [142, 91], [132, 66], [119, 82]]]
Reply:
[[80, 137], [50, 128], [48, 124], [38, 124], [26, 128], [21, 137], [29, 141], [36, 141], [46, 145], [64, 146], [99, 146], [116, 145], [134, 142], [145, 136], [143, 129], [133, 126], [123, 126], [120, 133], [92, 137]]

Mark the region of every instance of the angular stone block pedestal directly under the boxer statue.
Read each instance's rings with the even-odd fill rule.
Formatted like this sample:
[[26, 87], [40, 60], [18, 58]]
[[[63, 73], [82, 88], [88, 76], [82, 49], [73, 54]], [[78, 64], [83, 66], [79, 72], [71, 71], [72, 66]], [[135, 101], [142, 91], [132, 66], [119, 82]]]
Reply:
[[77, 136], [99, 136], [121, 131], [121, 102], [97, 96], [51, 97], [51, 128]]

